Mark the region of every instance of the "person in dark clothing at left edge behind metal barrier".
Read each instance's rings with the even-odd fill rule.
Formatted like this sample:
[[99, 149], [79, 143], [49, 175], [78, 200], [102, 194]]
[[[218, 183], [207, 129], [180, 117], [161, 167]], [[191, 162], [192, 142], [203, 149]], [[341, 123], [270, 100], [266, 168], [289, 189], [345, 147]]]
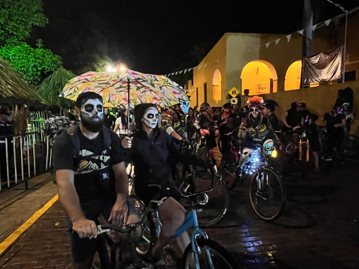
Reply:
[[[14, 127], [9, 121], [10, 113], [3, 106], [0, 105], [0, 178], [3, 179], [1, 182], [7, 180], [8, 178], [8, 169], [6, 167], [6, 139], [2, 138], [4, 136], [14, 135]], [[13, 138], [8, 138], [8, 165], [11, 168], [11, 164], [13, 163], [11, 160], [13, 159]]]

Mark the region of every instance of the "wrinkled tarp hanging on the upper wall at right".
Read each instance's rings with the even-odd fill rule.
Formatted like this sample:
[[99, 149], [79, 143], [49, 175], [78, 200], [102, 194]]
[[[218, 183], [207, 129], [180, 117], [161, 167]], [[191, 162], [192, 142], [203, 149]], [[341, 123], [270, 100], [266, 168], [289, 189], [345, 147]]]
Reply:
[[303, 58], [303, 85], [341, 79], [343, 47]]

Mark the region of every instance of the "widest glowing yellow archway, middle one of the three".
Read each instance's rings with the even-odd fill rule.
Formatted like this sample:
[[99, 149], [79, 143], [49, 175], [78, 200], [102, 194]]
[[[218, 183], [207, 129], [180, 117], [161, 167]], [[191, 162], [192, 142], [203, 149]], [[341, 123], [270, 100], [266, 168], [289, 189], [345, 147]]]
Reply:
[[278, 76], [274, 66], [267, 61], [256, 60], [247, 63], [241, 73], [242, 95], [249, 89], [250, 95], [277, 92]]

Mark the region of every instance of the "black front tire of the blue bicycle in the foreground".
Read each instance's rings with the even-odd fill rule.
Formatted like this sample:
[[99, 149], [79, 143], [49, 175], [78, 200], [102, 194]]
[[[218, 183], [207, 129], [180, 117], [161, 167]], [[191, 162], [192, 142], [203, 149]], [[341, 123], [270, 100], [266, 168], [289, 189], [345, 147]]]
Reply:
[[[196, 240], [197, 246], [202, 247], [202, 248], [208, 248], [210, 253], [211, 253], [211, 260], [213, 261], [214, 259], [214, 255], [213, 254], [218, 254], [219, 258], [222, 259], [224, 265], [227, 266], [223, 266], [223, 265], [219, 265], [216, 266], [215, 269], [237, 269], [239, 268], [239, 265], [237, 264], [237, 262], [234, 260], [233, 256], [224, 249], [223, 246], [219, 245], [217, 242], [211, 240], [211, 239], [205, 239], [205, 238], [199, 238]], [[201, 251], [201, 253], [198, 253], [199, 256], [199, 260], [200, 262], [202, 261], [205, 265], [206, 263], [206, 258], [201, 259], [202, 257], [204, 257], [206, 254], [206, 251]], [[191, 269], [191, 262], [193, 262], [193, 250], [192, 250], [192, 245], [188, 244], [188, 246], [186, 247], [185, 252], [183, 253], [183, 258], [182, 258], [182, 268], [183, 269]], [[218, 264], [218, 263], [216, 263]], [[193, 268], [193, 267], [192, 267]], [[204, 267], [201, 266], [200, 263], [200, 268], [210, 268], [210, 267]]]

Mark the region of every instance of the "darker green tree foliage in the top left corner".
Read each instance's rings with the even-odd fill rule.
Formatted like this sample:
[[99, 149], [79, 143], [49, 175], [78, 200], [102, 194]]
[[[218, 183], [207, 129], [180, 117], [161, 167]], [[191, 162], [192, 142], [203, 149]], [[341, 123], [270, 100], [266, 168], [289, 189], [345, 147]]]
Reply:
[[41, 0], [0, 0], [0, 46], [24, 41], [33, 26], [47, 23]]

